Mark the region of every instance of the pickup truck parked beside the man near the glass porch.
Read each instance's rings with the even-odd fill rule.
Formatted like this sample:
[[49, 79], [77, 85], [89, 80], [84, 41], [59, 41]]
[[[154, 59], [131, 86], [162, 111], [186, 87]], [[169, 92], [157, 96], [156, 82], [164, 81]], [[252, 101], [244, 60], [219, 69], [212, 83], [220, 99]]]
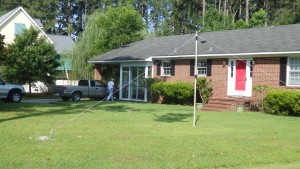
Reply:
[[79, 80], [78, 85], [55, 85], [53, 95], [60, 96], [62, 100], [79, 101], [81, 98], [105, 98], [107, 97], [106, 84], [100, 80]]

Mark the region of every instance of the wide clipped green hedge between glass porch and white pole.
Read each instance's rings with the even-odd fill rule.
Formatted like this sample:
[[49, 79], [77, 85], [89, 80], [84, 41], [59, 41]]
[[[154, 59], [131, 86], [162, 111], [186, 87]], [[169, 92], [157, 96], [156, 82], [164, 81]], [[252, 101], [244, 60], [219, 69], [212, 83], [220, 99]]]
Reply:
[[151, 86], [154, 93], [164, 96], [164, 103], [190, 104], [193, 85], [186, 82], [155, 82]]

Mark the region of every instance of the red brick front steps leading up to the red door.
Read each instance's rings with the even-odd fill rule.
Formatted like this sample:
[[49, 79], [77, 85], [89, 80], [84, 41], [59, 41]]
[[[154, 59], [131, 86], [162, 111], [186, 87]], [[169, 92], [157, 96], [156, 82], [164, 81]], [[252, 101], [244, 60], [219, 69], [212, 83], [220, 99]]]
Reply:
[[238, 97], [214, 97], [210, 98], [208, 104], [204, 104], [201, 110], [206, 111], [237, 111], [237, 107], [244, 108], [249, 105], [250, 98]]

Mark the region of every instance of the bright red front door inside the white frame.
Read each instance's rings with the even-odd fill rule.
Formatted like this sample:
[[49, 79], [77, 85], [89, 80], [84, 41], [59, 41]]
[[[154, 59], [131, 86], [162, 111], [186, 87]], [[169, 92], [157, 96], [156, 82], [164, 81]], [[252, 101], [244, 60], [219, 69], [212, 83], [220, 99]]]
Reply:
[[236, 61], [235, 90], [245, 91], [246, 87], [246, 60]]

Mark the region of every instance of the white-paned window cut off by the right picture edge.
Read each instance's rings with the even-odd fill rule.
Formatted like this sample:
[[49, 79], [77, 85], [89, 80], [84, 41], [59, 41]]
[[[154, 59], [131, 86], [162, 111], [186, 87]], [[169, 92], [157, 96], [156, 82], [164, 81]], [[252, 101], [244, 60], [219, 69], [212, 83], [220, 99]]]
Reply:
[[289, 58], [289, 85], [300, 85], [300, 57]]

